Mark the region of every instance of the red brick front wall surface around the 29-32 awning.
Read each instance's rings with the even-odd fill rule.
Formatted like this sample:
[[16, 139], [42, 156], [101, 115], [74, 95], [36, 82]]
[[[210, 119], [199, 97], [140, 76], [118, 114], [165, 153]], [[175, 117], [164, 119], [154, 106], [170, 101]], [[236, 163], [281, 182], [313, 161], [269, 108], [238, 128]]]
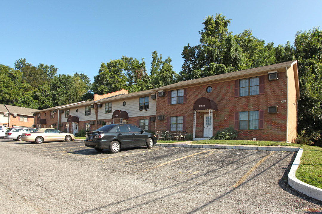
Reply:
[[[206, 88], [212, 87], [212, 92], [207, 93]], [[264, 110], [264, 129], [238, 130], [238, 139], [286, 141], [287, 134], [287, 100], [285, 70], [279, 71], [279, 79], [269, 81], [264, 75], [264, 94], [245, 97], [234, 97], [235, 81], [225, 81], [187, 88], [187, 102], [185, 104], [167, 105], [165, 97], [157, 97], [156, 115], [164, 115], [165, 120], [156, 119], [156, 131], [165, 131], [168, 116], [186, 116], [186, 132], [193, 134], [194, 102], [200, 97], [206, 97], [216, 102], [218, 112], [214, 111], [213, 134], [224, 128], [234, 127], [234, 112]], [[269, 106], [278, 106], [278, 113], [269, 114]], [[202, 115], [202, 117], [200, 117]], [[294, 117], [294, 116], [292, 116]], [[290, 118], [295, 119], [295, 118]], [[204, 132], [204, 115], [197, 112], [196, 138], [202, 138]]]

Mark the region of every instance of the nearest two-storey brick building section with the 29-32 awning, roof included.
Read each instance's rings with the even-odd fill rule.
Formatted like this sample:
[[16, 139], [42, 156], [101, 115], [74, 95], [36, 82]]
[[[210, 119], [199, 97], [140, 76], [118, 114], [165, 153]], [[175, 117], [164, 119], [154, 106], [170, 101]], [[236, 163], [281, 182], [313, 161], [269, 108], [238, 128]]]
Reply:
[[154, 89], [156, 130], [209, 138], [233, 127], [240, 140], [293, 141], [297, 134], [297, 61]]

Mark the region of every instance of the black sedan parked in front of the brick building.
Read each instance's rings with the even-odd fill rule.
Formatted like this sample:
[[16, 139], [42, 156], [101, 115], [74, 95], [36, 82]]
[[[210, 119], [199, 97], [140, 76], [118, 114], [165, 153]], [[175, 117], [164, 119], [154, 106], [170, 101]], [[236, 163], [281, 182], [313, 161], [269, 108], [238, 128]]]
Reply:
[[145, 132], [132, 124], [109, 124], [95, 131], [86, 132], [85, 146], [96, 151], [109, 149], [117, 153], [121, 148], [134, 146], [147, 146], [151, 148], [156, 144], [156, 135]]

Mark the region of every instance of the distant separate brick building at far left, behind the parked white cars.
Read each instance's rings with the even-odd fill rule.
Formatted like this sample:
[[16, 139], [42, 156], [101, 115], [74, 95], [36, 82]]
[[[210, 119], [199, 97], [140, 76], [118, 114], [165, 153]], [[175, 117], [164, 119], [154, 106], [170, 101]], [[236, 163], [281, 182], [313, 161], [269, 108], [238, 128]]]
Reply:
[[0, 104], [0, 125], [33, 127], [33, 111], [37, 109]]

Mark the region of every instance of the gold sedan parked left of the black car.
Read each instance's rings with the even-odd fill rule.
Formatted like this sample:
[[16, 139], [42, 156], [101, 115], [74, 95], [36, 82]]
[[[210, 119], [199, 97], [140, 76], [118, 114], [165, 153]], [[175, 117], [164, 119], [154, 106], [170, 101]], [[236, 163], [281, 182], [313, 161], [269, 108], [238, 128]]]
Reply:
[[29, 141], [35, 143], [43, 143], [45, 141], [72, 141], [75, 136], [71, 133], [64, 133], [57, 129], [42, 128], [37, 129], [30, 133], [24, 133], [21, 135], [22, 141]]

